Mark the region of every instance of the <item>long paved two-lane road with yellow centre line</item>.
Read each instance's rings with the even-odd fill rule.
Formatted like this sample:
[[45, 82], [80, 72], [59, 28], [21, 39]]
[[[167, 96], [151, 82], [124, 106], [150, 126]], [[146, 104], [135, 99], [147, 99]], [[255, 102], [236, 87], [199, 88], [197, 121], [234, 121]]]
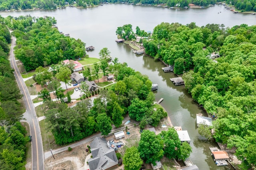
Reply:
[[32, 136], [32, 170], [44, 170], [44, 152], [42, 146], [42, 138], [38, 119], [36, 117], [35, 108], [30, 98], [28, 89], [21, 77], [20, 71], [15, 62], [13, 48], [15, 46], [16, 39], [12, 37], [12, 46], [10, 51], [10, 63], [14, 69], [14, 75], [17, 83], [20, 87], [20, 91], [23, 95], [23, 100], [26, 106], [26, 112], [23, 114], [25, 121], [30, 125], [30, 133]]

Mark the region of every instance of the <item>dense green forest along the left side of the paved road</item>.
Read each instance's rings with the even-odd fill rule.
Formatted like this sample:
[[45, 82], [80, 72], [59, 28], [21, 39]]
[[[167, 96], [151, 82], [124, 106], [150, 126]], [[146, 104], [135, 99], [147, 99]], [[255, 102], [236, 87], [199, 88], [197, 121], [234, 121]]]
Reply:
[[20, 124], [21, 99], [13, 69], [8, 60], [11, 35], [0, 21], [0, 169], [25, 170], [26, 129]]

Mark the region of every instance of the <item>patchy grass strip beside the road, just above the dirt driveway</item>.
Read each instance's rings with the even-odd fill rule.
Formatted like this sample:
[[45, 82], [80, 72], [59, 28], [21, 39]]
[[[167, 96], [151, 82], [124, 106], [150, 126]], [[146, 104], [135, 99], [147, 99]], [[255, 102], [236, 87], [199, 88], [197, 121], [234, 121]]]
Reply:
[[39, 126], [40, 126], [40, 130], [41, 130], [44, 152], [49, 151], [50, 148], [51, 149], [60, 148], [61, 146], [59, 146], [55, 143], [54, 136], [53, 136], [52, 132], [48, 132], [48, 130], [46, 130], [46, 121], [45, 120], [40, 121]]

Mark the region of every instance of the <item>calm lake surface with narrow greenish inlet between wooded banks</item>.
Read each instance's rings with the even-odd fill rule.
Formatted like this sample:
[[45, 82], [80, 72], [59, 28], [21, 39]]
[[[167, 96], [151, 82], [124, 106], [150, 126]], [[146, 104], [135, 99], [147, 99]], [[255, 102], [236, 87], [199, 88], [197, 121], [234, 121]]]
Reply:
[[240, 24], [249, 26], [256, 24], [256, 16], [250, 14], [234, 14], [224, 6], [216, 5], [204, 9], [169, 9], [154, 6], [132, 6], [128, 4], [104, 4], [90, 9], [77, 9], [67, 7], [59, 10], [28, 10], [14, 12], [0, 12], [6, 16], [52, 16], [57, 20], [57, 26], [64, 34], [80, 38], [86, 46], [94, 46], [94, 51], [89, 51], [89, 57], [97, 57], [100, 49], [107, 47], [113, 58], [119, 62], [126, 62], [130, 67], [142, 74], [148, 75], [153, 83], [158, 83], [156, 101], [164, 98], [161, 105], [166, 109], [174, 126], [181, 126], [188, 130], [191, 138], [192, 154], [190, 159], [200, 170], [228, 170], [230, 166], [218, 167], [214, 164], [209, 147], [216, 143], [205, 142], [198, 134], [196, 128], [196, 114], [204, 113], [187, 93], [184, 86], [174, 86], [170, 78], [176, 77], [173, 73], [164, 73], [160, 61], [148, 55], [135, 55], [128, 45], [116, 43], [116, 29], [124, 24], [132, 24], [141, 30], [153, 31], [161, 22], [178, 22], [189, 24], [196, 22], [198, 26], [206, 24], [224, 24], [232, 27]]

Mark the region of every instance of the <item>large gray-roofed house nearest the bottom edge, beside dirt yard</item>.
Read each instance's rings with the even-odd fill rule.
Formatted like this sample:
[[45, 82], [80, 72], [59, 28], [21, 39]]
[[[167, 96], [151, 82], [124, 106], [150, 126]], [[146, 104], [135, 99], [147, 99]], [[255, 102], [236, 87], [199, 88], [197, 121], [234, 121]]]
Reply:
[[108, 148], [105, 138], [96, 137], [90, 143], [92, 158], [88, 159], [90, 170], [105, 170], [118, 164], [116, 152]]

